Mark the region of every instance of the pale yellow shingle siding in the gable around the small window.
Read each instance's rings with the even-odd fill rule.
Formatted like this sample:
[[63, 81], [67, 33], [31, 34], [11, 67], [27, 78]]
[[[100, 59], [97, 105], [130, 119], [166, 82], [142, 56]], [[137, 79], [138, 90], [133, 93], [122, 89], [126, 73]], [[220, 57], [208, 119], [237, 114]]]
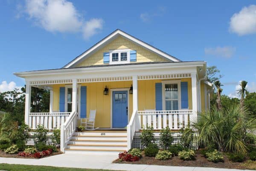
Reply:
[[[160, 57], [156, 55], [154, 52], [151, 52], [145, 49], [142, 46], [139, 46], [127, 39], [123, 38], [122, 36], [118, 36], [116, 39], [108, 43], [102, 49], [99, 49], [93, 55], [81, 61], [76, 67], [84, 67], [84, 66], [91, 66], [91, 65], [103, 65], [103, 53], [109, 52], [109, 50], [114, 49], [131, 49], [137, 51], [137, 62], [153, 62], [153, 61], [169, 61], [166, 58]], [[108, 64], [106, 64], [108, 65]]]

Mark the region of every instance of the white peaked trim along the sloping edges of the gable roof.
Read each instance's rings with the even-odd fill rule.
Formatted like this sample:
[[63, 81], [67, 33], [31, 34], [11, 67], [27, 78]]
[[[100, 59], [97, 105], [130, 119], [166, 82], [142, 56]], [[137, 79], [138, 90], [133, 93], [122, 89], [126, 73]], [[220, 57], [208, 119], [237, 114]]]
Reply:
[[105, 44], [107, 41], [111, 40], [112, 38], [114, 38], [116, 35], [122, 35], [123, 37], [135, 42], [135, 43], [138, 43], [140, 44], [141, 46], [157, 53], [158, 55], [161, 55], [171, 61], [174, 61], [174, 62], [180, 62], [179, 59], [177, 58], [174, 58], [173, 56], [171, 55], [168, 55], [166, 53], [164, 53], [163, 51], [159, 50], [159, 49], [156, 49], [155, 47], [147, 44], [147, 43], [144, 43], [143, 41], [140, 41], [139, 39], [137, 38], [134, 38], [133, 36], [131, 35], [128, 35], [127, 33], [125, 32], [122, 32], [121, 30], [116, 30], [115, 32], [113, 32], [111, 35], [109, 35], [108, 37], [104, 38], [102, 41], [100, 41], [99, 43], [97, 43], [96, 45], [94, 45], [93, 47], [91, 47], [90, 49], [88, 49], [87, 51], [85, 51], [83, 54], [81, 54], [79, 57], [77, 57], [76, 59], [74, 59], [73, 61], [71, 61], [69, 64], [65, 65], [63, 68], [69, 68], [69, 67], [72, 67], [74, 64], [76, 64], [78, 61], [80, 61], [82, 58], [84, 58], [86, 55], [90, 54], [91, 52], [93, 52], [95, 49], [99, 48], [100, 46], [102, 46], [103, 44]]

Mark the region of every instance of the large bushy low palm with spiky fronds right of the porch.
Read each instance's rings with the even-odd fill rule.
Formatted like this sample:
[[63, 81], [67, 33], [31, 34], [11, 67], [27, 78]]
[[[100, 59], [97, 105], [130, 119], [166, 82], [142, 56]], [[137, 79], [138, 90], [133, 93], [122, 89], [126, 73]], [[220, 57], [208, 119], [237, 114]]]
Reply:
[[246, 153], [245, 137], [253, 135], [256, 128], [256, 119], [248, 116], [248, 111], [239, 105], [221, 110], [213, 107], [192, 121], [192, 130], [199, 133], [194, 140], [203, 147], [215, 144], [220, 151]]

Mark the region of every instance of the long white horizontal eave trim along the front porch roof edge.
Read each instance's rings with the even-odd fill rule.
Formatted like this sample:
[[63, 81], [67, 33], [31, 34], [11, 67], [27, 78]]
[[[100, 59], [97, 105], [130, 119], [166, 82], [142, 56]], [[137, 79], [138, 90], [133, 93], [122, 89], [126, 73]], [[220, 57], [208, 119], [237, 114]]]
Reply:
[[165, 69], [165, 68], [186, 68], [202, 67], [206, 65], [204, 61], [196, 62], [178, 62], [178, 63], [161, 63], [161, 64], [137, 64], [137, 65], [119, 65], [108, 67], [88, 67], [88, 68], [70, 68], [58, 70], [41, 70], [28, 72], [15, 72], [14, 75], [22, 78], [37, 75], [54, 75], [54, 74], [72, 74], [81, 72], [106, 72], [106, 71], [129, 71], [129, 70], [146, 70], [146, 69]]

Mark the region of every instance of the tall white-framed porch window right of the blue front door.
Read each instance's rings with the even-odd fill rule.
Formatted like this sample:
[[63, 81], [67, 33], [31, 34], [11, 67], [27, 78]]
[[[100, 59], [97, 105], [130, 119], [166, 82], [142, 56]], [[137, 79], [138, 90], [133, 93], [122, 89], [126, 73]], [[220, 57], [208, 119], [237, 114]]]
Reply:
[[163, 110], [180, 110], [180, 81], [163, 81]]

